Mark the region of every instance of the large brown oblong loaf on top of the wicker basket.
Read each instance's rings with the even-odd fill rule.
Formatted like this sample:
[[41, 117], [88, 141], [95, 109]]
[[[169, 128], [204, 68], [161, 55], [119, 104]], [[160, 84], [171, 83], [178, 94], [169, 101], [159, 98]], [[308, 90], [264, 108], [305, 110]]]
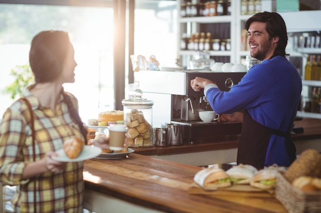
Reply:
[[300, 156], [293, 161], [284, 177], [290, 182], [300, 176], [311, 176], [321, 178], [321, 154], [313, 149], [302, 152]]

